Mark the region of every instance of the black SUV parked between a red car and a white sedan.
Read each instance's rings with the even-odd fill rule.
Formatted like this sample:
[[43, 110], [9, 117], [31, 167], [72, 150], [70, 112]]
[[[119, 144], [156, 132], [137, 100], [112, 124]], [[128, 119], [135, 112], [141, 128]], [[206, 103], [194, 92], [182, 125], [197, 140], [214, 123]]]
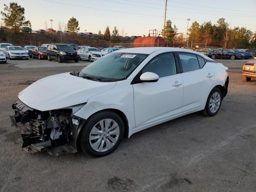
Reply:
[[79, 61], [79, 55], [77, 51], [69, 44], [50, 44], [47, 48], [48, 61], [52, 59], [57, 59], [59, 63], [64, 60], [74, 60]]

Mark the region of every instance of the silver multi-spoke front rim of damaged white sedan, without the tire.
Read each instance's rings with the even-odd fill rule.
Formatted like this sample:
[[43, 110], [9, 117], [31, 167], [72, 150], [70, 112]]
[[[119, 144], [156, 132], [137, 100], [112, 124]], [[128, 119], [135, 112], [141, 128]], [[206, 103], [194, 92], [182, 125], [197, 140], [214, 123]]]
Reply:
[[118, 141], [120, 128], [113, 119], [103, 119], [96, 123], [89, 135], [90, 146], [96, 152], [110, 150]]

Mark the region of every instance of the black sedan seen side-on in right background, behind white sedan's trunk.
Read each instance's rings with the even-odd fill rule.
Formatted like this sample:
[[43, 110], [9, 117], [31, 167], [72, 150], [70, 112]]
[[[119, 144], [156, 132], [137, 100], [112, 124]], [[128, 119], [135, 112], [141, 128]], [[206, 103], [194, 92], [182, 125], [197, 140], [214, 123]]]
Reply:
[[212, 59], [216, 58], [228, 58], [228, 59], [241, 59], [244, 58], [244, 54], [234, 52], [232, 49], [216, 49], [208, 53], [208, 57]]

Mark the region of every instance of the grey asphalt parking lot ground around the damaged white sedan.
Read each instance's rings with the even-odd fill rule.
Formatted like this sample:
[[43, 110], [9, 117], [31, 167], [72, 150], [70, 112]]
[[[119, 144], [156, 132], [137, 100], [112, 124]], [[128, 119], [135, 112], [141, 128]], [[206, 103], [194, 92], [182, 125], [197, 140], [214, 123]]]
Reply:
[[241, 81], [248, 60], [217, 61], [229, 68], [230, 85], [216, 116], [198, 112], [148, 128], [103, 158], [28, 154], [9, 120], [29, 84], [89, 62], [0, 64], [0, 192], [255, 192], [256, 81]]

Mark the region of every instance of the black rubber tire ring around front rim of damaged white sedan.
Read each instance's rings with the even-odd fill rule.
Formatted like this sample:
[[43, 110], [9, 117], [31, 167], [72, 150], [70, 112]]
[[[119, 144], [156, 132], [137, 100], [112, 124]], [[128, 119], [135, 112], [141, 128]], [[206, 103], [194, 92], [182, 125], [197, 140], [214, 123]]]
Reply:
[[[112, 120], [115, 120], [119, 126], [120, 129], [120, 134], [118, 137], [118, 140], [116, 144], [110, 148], [108, 151], [105, 152], [97, 152], [92, 147], [90, 146], [89, 142], [89, 136], [92, 128], [94, 127], [95, 124], [97, 124], [100, 120], [110, 118]], [[118, 114], [112, 111], [102, 111], [98, 112], [96, 114], [93, 114], [88, 121], [86, 122], [85, 126], [82, 128], [80, 135], [79, 135], [79, 144], [80, 144], [80, 149], [82, 152], [93, 156], [93, 157], [103, 157], [106, 156], [110, 153], [112, 153], [120, 144], [122, 138], [124, 136], [124, 122], [122, 121], [122, 118]]]

